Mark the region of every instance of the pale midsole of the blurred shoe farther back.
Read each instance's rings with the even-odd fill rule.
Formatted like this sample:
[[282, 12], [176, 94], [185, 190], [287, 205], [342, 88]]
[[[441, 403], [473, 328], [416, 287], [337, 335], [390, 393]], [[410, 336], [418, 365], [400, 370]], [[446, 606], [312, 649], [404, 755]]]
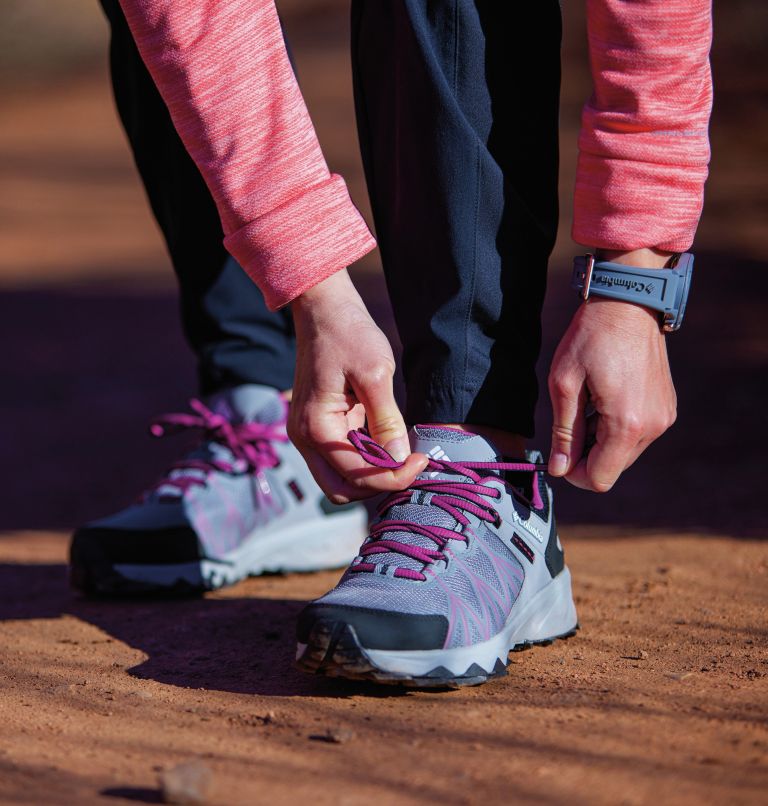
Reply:
[[362, 507], [337, 515], [322, 515], [281, 529], [258, 527], [235, 550], [219, 560], [174, 565], [115, 565], [123, 577], [137, 582], [172, 585], [213, 580], [230, 584], [246, 576], [340, 568], [358, 553], [368, 533]]

